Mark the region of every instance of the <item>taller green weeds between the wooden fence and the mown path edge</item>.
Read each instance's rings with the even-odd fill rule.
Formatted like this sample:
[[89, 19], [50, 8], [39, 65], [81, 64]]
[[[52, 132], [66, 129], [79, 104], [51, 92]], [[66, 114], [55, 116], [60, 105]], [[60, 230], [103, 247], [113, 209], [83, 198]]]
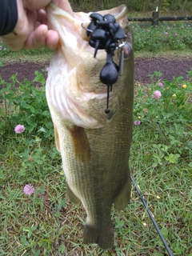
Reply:
[[143, 28], [131, 23], [134, 31], [135, 51], [158, 52], [159, 50], [192, 49], [192, 26], [190, 22], [162, 23], [158, 27]]

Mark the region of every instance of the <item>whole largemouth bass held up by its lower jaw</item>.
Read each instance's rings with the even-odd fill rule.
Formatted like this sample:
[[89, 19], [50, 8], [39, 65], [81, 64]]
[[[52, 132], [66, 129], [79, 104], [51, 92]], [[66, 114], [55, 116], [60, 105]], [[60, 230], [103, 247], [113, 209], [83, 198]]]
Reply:
[[[50, 60], [46, 99], [61, 153], [70, 201], [86, 210], [85, 244], [102, 250], [114, 246], [111, 209], [123, 210], [130, 202], [130, 144], [133, 130], [134, 36], [125, 5], [97, 14], [114, 16], [126, 34], [123, 72], [109, 93], [99, 74], [106, 64], [106, 50], [90, 46], [87, 27], [90, 13], [75, 13], [67, 1], [46, 7], [51, 29], [58, 31], [59, 46]], [[90, 31], [91, 32], [91, 31]], [[114, 50], [114, 66], [120, 62]]]

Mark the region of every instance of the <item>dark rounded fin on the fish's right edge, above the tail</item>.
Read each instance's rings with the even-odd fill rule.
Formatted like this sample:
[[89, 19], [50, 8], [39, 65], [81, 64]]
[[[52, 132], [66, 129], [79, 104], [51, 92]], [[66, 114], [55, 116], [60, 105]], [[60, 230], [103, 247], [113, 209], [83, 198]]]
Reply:
[[131, 190], [131, 180], [130, 174], [126, 178], [122, 189], [119, 191], [118, 195], [114, 199], [114, 207], [117, 210], [124, 210], [128, 203], [130, 202], [130, 190]]

